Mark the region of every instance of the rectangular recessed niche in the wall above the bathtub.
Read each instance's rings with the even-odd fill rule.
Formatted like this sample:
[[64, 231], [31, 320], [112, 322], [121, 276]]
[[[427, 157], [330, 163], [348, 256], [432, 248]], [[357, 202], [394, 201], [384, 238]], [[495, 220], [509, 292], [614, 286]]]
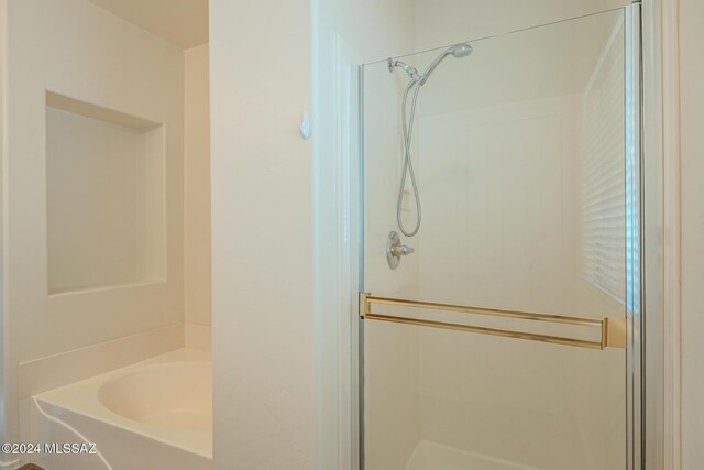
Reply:
[[48, 293], [164, 281], [164, 125], [46, 94]]

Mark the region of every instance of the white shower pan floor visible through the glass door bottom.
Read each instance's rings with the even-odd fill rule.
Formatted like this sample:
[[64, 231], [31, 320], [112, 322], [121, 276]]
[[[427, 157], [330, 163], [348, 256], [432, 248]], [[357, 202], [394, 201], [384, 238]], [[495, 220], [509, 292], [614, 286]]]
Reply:
[[405, 470], [541, 470], [536, 467], [424, 440], [414, 450]]

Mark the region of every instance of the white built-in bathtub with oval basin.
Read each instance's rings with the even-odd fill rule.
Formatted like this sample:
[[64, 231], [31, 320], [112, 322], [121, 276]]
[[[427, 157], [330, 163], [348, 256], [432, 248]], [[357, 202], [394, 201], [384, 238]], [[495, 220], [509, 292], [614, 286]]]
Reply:
[[211, 384], [209, 353], [179, 349], [35, 395], [33, 442], [89, 453], [31, 460], [51, 470], [210, 470]]

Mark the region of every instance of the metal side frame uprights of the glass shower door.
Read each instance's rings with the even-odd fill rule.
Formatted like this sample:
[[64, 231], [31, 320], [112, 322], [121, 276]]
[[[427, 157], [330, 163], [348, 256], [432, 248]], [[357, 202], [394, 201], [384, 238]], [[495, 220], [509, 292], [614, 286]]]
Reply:
[[[627, 237], [637, 243], [628, 245], [630, 264], [627, 267], [628, 348], [626, 367], [627, 393], [627, 470], [663, 469], [663, 285], [671, 282], [663, 276], [663, 160], [661, 77], [646, 80], [644, 68], [662, 72], [661, 65], [661, 0], [634, 1], [623, 7], [626, 40], [626, 159], [627, 167]], [[647, 17], [647, 20], [644, 20]], [[540, 28], [540, 26], [537, 26]], [[646, 37], [647, 41], [644, 41]], [[364, 64], [359, 67], [359, 167], [353, 171], [359, 183], [358, 204], [352, 212], [356, 225], [359, 276], [350, 280], [363, 292], [364, 286]], [[649, 107], [645, 103], [648, 102]], [[647, 132], [646, 132], [647, 131]], [[648, 139], [645, 139], [645, 136]], [[354, 184], [353, 184], [354, 186]], [[358, 214], [354, 214], [358, 212]], [[356, 217], [355, 217], [356, 216]], [[352, 237], [354, 239], [354, 237]], [[634, 261], [636, 260], [636, 261]], [[645, 288], [647, 286], [647, 288]], [[356, 409], [352, 411], [351, 427], [358, 436], [353, 452], [359, 468], [364, 469], [364, 320], [359, 318], [359, 299], [352, 299], [352, 351], [358, 370], [352, 379], [356, 384]], [[647, 316], [646, 316], [647, 313]], [[354, 321], [353, 321], [354, 323]], [[648, 332], [648, 335], [646, 335]], [[646, 336], [649, 361], [646, 361]], [[356, 354], [355, 354], [356, 352]], [[648, 393], [646, 393], [648, 391]], [[669, 468], [669, 466], [668, 466]], [[674, 470], [674, 469], [673, 469]]]

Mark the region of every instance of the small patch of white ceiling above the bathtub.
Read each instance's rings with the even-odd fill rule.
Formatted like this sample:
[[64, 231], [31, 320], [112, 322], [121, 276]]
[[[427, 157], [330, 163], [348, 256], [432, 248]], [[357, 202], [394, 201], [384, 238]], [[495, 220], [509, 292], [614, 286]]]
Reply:
[[208, 0], [90, 0], [183, 48], [208, 42]]

